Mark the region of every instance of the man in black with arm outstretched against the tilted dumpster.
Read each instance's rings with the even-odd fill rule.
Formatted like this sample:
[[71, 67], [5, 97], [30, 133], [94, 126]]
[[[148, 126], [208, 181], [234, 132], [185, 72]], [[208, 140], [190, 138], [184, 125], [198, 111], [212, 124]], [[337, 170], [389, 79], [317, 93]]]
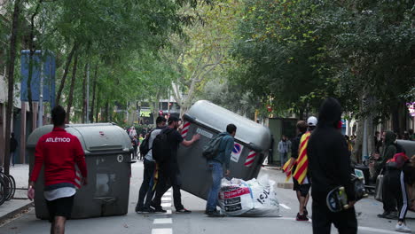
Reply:
[[184, 140], [182, 135], [177, 131], [177, 128], [180, 126], [180, 120], [175, 116], [170, 116], [168, 118], [168, 128], [163, 129], [167, 134], [167, 144], [170, 149], [169, 155], [164, 156], [159, 164], [159, 181], [157, 182], [156, 194], [153, 199], [153, 207], [156, 211], [161, 211], [161, 197], [163, 194], [168, 191], [168, 186], [166, 186], [167, 181], [171, 183], [173, 187], [173, 200], [176, 207], [176, 213], [191, 213], [190, 210], [185, 209], [182, 204], [182, 194], [180, 193], [180, 170], [177, 163], [177, 150], [179, 144], [184, 146], [190, 146], [200, 139], [200, 135], [196, 134], [192, 137], [192, 140]]

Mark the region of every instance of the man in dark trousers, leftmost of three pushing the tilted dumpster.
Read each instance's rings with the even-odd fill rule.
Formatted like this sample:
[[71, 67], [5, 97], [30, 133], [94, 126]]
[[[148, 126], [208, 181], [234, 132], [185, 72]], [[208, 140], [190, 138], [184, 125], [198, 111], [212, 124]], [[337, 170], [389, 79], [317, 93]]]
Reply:
[[154, 129], [151, 134], [147, 137], [148, 139], [148, 152], [145, 154], [144, 157], [144, 175], [143, 175], [143, 183], [141, 183], [140, 191], [138, 192], [138, 201], [136, 206], [137, 213], [152, 213], [155, 212], [152, 207], [150, 207], [154, 190], [154, 172], [156, 169], [156, 163], [153, 159], [153, 140], [154, 138], [160, 134], [162, 129], [166, 129], [166, 119], [162, 116], [157, 117], [156, 119], [156, 126], [157, 128]]

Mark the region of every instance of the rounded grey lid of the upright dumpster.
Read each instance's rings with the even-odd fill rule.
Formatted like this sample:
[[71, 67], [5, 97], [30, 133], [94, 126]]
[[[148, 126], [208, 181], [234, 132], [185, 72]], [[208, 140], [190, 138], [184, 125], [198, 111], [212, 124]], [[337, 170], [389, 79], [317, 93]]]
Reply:
[[[27, 139], [27, 148], [35, 148], [44, 134], [50, 133], [52, 125], [35, 129]], [[113, 123], [67, 124], [68, 133], [77, 136], [86, 152], [129, 151], [131, 140], [127, 133]]]

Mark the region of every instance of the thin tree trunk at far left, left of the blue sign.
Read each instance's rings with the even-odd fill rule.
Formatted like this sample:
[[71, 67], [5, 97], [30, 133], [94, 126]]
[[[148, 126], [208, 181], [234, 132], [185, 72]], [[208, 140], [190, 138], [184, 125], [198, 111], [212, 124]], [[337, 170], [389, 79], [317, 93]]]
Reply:
[[16, 49], [18, 43], [18, 29], [20, 17], [20, 0], [14, 1], [13, 19], [12, 19], [12, 35], [10, 36], [10, 55], [7, 63], [7, 108], [6, 108], [6, 122], [5, 122], [5, 139], [4, 139], [4, 173], [10, 173], [10, 135], [12, 125], [12, 110], [13, 110], [13, 88], [14, 88], [14, 63], [16, 60]]

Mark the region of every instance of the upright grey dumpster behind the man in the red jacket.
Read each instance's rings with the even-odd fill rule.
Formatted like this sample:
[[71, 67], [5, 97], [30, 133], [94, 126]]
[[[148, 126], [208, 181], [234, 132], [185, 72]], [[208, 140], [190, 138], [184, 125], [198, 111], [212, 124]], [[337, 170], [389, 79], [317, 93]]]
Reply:
[[[35, 144], [51, 129], [51, 125], [35, 129], [27, 139], [30, 173], [35, 163]], [[127, 214], [131, 175], [131, 143], [127, 133], [111, 123], [72, 124], [66, 130], [80, 140], [88, 168], [88, 185], [76, 192], [72, 218]], [[42, 169], [35, 184], [35, 214], [37, 218], [48, 219], [43, 182]]]

